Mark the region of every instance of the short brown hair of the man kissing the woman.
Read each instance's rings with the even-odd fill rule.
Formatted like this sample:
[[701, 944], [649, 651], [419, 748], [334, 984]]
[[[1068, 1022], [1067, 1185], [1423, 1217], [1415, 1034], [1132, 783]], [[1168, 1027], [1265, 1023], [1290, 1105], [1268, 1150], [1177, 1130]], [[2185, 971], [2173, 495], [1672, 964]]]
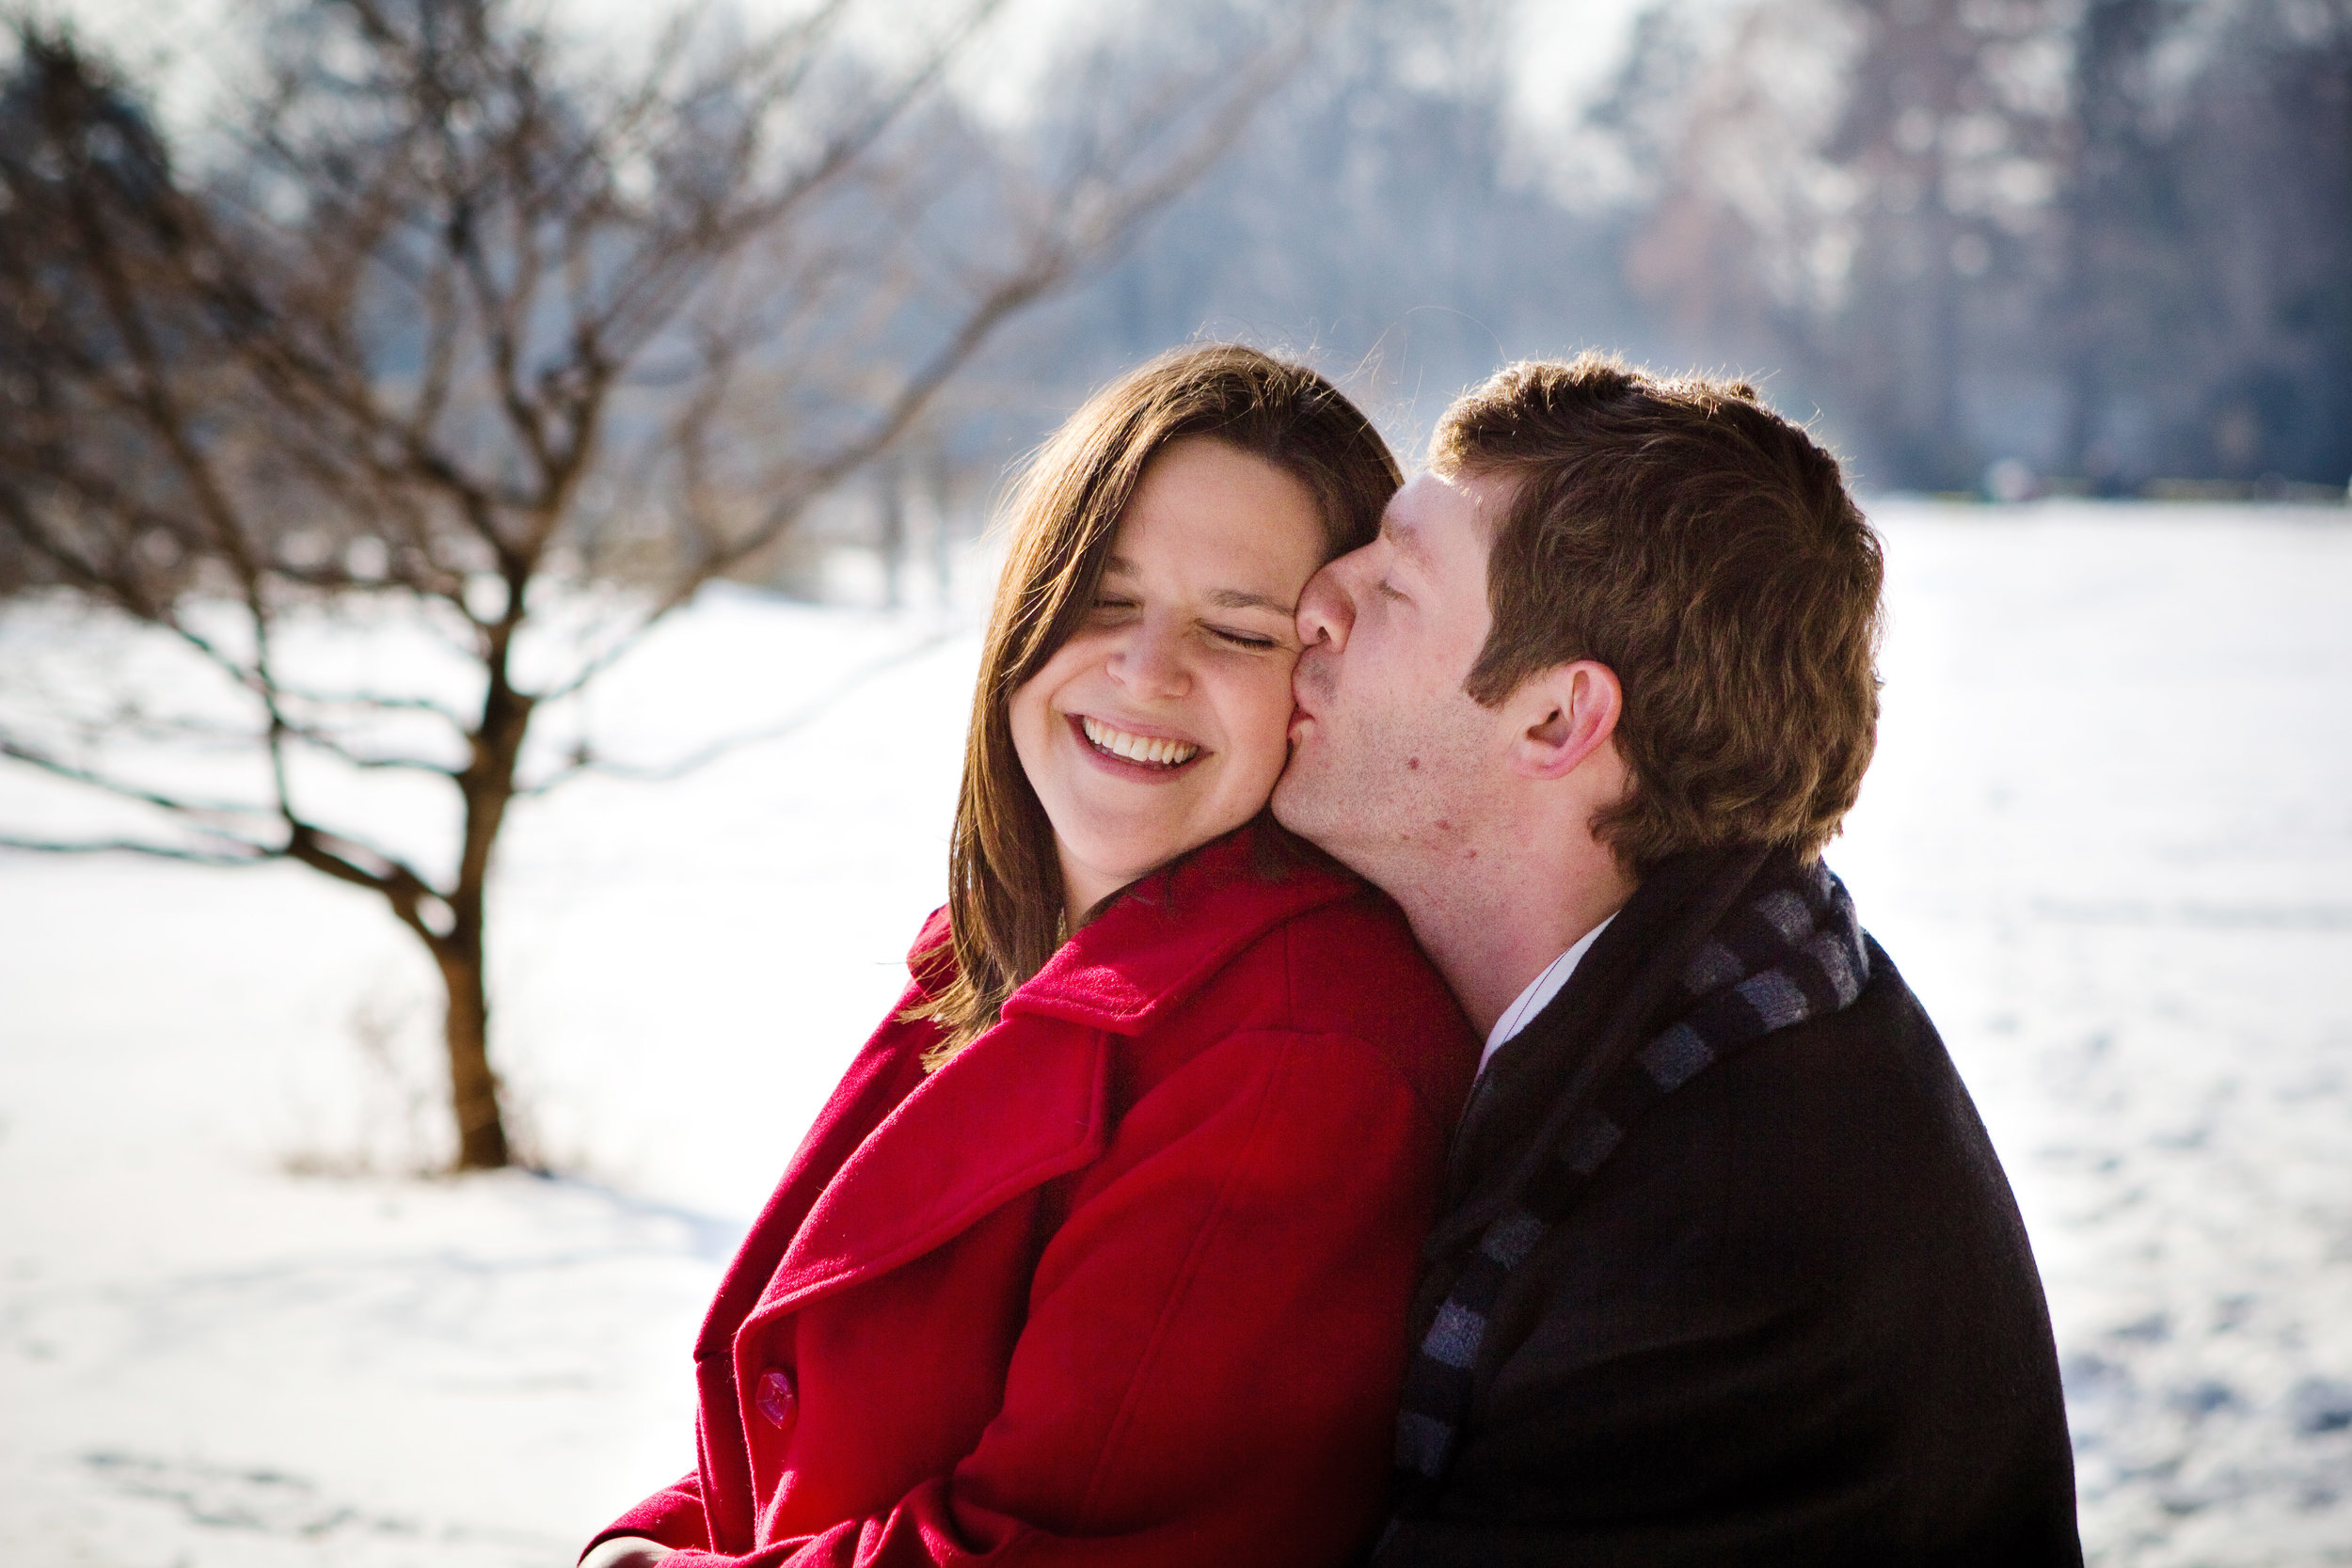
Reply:
[[1625, 691], [1632, 792], [1595, 835], [1635, 870], [1724, 844], [1804, 858], [1879, 722], [1879, 538], [1837, 458], [1755, 388], [1623, 360], [1522, 362], [1439, 421], [1430, 465], [1515, 484], [1465, 691], [1592, 658]]

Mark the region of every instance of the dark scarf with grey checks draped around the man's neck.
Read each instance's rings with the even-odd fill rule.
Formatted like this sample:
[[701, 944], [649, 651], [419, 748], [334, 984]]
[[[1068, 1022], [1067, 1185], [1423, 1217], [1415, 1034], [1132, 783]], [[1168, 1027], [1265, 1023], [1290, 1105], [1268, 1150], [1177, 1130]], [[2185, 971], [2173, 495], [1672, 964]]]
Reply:
[[1573, 1206], [1625, 1131], [1724, 1053], [1849, 1006], [1870, 980], [1846, 886], [1818, 860], [1773, 853], [1682, 971], [1665, 1027], [1606, 1074], [1517, 1201], [1479, 1234], [1404, 1378], [1399, 1500], [1435, 1493], [1470, 1413], [1472, 1371], [1512, 1269]]

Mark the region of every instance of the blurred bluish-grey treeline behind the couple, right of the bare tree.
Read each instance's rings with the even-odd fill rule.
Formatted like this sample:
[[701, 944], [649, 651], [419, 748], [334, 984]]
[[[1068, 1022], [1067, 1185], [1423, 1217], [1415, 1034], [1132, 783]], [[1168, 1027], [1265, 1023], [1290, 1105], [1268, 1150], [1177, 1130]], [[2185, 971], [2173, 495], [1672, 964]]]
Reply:
[[[1545, 75], [1531, 19], [1602, 68]], [[1009, 378], [1082, 371], [1061, 407], [1200, 329], [1406, 442], [1498, 360], [1621, 346], [1762, 376], [1872, 489], [2340, 496], [2352, 5], [1362, 0], [990, 360], [1040, 343]]]

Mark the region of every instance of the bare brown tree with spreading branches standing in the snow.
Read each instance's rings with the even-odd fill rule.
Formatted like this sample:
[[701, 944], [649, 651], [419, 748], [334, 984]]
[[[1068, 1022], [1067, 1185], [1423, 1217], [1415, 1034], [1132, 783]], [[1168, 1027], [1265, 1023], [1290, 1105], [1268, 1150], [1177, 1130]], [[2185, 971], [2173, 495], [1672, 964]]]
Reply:
[[[296, 0], [198, 169], [120, 73], [19, 19], [0, 576], [167, 639], [219, 701], [9, 701], [0, 755], [129, 825], [0, 842], [296, 860], [381, 896], [447, 990], [456, 1164], [508, 1164], [492, 860], [517, 799], [600, 766], [548, 715], [1115, 254], [1331, 7], [1141, 82], [1150, 40], [1105, 35], [997, 132], [950, 80], [993, 9], [910, 12], [889, 52], [856, 45], [854, 0], [764, 38], [684, 16], [595, 71], [506, 0]], [[447, 658], [320, 675], [327, 621]], [[188, 785], [205, 766], [219, 790]], [[454, 842], [402, 853], [341, 776], [452, 790]]]

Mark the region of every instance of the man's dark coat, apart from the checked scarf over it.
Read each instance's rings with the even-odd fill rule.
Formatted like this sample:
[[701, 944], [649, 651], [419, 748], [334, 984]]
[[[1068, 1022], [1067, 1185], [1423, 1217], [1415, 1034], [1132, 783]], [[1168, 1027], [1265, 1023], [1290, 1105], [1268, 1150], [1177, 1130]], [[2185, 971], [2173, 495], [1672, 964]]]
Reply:
[[[1503, 1046], [1418, 1293], [1541, 1168], [1595, 1060], [1668, 1020], [1755, 853], [1649, 877]], [[1510, 1276], [1409, 1563], [2082, 1563], [2049, 1309], [1983, 1121], [1877, 947], [1844, 1011], [1658, 1100]]]

